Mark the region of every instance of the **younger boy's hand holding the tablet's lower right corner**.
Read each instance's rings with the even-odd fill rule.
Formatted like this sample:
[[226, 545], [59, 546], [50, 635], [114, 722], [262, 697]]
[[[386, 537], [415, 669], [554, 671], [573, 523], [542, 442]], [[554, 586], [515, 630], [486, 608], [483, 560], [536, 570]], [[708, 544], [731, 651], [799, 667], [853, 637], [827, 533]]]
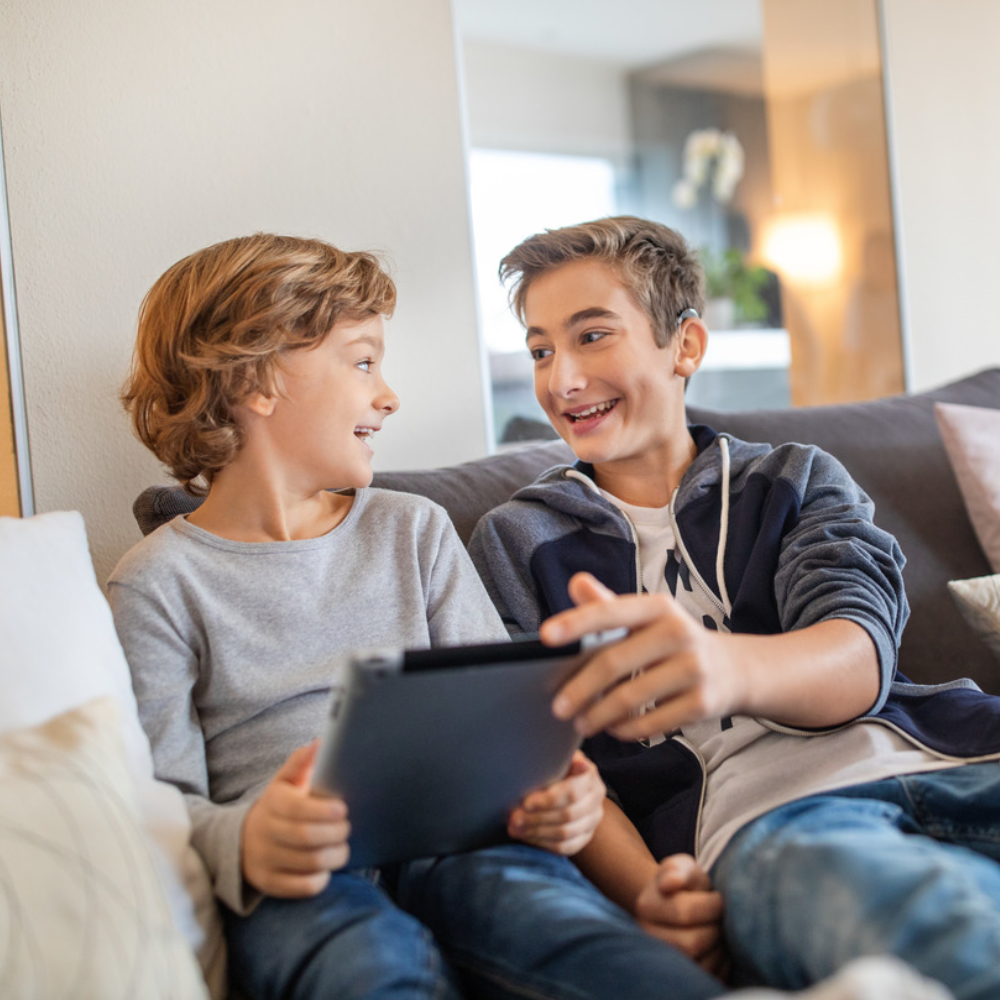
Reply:
[[577, 750], [564, 778], [521, 800], [510, 815], [507, 832], [554, 854], [576, 854], [590, 843], [604, 816], [604, 795], [597, 768]]

